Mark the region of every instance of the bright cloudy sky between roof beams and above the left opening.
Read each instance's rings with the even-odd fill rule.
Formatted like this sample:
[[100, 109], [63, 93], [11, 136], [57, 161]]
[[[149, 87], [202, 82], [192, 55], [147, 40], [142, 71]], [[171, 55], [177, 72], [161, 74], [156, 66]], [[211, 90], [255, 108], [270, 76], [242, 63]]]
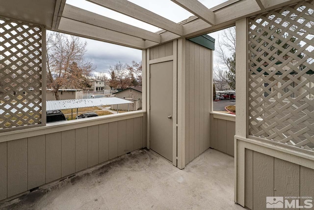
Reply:
[[[171, 0], [129, 0], [141, 7], [144, 7], [158, 15], [161, 15], [175, 23], [181, 22], [188, 17], [192, 16], [190, 12], [184, 10], [182, 7], [173, 3]], [[208, 8], [214, 7], [226, 0], [199, 0]], [[67, 0], [68, 4], [80, 7], [82, 9], [89, 10], [91, 12], [142, 28], [145, 30], [156, 32], [158, 29], [155, 26], [143, 23], [141, 21], [135, 20], [131, 17], [125, 16], [118, 12], [106, 9], [102, 6], [96, 5], [94, 3], [88, 2], [86, 0]], [[217, 38], [217, 33], [210, 34], [213, 38]], [[94, 64], [97, 65], [96, 71], [98, 72], [109, 72], [110, 65], [113, 66], [117, 62], [131, 64], [132, 60], [141, 61], [142, 51], [122, 47], [119, 45], [109, 44], [105, 42], [95, 41], [91, 39], [82, 38], [83, 41], [87, 41], [87, 53], [86, 57], [92, 60]]]

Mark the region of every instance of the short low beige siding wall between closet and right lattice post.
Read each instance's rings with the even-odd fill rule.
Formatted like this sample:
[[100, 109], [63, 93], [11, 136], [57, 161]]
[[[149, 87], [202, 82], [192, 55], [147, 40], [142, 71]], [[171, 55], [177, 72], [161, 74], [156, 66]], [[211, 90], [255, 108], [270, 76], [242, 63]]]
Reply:
[[210, 148], [235, 155], [235, 116], [210, 114]]

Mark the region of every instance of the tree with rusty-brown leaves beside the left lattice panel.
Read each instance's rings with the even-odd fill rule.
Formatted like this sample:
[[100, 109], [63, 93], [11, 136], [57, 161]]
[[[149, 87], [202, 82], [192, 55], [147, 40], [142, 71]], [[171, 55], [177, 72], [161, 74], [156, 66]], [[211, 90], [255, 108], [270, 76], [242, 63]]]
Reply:
[[86, 42], [77, 36], [58, 32], [47, 35], [47, 86], [59, 100], [61, 86], [71, 88], [86, 87], [87, 76], [96, 68], [85, 60]]

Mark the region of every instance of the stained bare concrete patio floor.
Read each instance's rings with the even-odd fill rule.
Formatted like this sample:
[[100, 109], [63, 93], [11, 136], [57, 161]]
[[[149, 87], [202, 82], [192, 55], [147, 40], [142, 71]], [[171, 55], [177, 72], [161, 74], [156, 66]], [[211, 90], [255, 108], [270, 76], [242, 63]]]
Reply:
[[1, 204], [0, 209], [243, 208], [234, 203], [233, 157], [209, 149], [180, 170], [143, 149]]

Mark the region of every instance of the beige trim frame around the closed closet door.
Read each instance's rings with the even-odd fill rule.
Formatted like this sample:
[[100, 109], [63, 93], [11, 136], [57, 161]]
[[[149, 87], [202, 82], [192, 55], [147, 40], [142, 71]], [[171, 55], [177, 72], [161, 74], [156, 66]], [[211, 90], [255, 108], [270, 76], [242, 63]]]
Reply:
[[173, 55], [171, 56], [149, 60], [150, 49], [146, 49], [145, 57], [147, 63], [147, 149], [150, 149], [150, 65], [173, 61], [172, 164], [183, 169], [185, 167], [185, 38], [173, 40]]

